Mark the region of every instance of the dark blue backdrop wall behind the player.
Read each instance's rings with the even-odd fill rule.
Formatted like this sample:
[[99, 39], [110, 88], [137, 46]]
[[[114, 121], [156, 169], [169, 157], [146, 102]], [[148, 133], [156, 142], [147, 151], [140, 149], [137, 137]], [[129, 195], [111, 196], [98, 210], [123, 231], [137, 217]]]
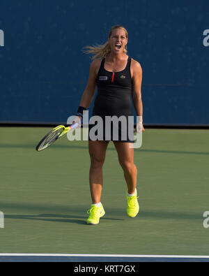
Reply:
[[144, 122], [209, 124], [208, 18], [208, 0], [1, 0], [0, 121], [66, 122], [88, 80], [82, 49], [123, 24], [143, 68]]

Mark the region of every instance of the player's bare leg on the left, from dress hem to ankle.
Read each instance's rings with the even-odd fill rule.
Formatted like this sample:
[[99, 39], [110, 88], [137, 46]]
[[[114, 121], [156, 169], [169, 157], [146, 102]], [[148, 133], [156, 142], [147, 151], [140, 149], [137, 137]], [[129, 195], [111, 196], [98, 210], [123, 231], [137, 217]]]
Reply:
[[104, 164], [108, 144], [109, 141], [88, 141], [88, 151], [91, 158], [89, 184], [93, 204], [100, 203], [103, 184], [102, 166]]

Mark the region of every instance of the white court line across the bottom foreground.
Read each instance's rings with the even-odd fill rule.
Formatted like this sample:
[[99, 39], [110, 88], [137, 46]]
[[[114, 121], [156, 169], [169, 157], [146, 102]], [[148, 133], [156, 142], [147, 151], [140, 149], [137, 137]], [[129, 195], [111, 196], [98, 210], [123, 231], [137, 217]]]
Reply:
[[61, 257], [125, 257], [125, 258], [183, 258], [209, 259], [209, 256], [196, 255], [123, 255], [123, 254], [36, 254], [36, 253], [0, 253], [0, 256], [61, 256]]

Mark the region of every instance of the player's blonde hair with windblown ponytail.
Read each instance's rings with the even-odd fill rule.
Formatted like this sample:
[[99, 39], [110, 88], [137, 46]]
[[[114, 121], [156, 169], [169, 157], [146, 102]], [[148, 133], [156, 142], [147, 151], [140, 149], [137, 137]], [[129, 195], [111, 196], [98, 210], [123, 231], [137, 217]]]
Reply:
[[[115, 26], [111, 27], [111, 29], [109, 30], [108, 38], [110, 38], [112, 32], [115, 29], [123, 29], [123, 31], [125, 31], [125, 36], [127, 38], [127, 30], [125, 29], [125, 27], [123, 27], [121, 25], [115, 25]], [[107, 57], [107, 55], [111, 51], [108, 41], [102, 45], [86, 46], [86, 47], [84, 47], [84, 49], [86, 49], [86, 50], [84, 50], [84, 52], [86, 54], [93, 54], [93, 57], [91, 57], [91, 59], [99, 59], [99, 58], [104, 59], [104, 57]], [[127, 49], [124, 49], [123, 52], [126, 54]]]

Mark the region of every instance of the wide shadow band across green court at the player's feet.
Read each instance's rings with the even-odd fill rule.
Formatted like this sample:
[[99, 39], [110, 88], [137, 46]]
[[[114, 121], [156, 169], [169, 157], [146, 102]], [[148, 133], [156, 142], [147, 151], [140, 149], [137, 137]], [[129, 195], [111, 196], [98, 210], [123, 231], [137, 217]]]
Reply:
[[[53, 205], [40, 203], [20, 203], [20, 202], [0, 202], [0, 210], [4, 213], [4, 217], [8, 219], [36, 219], [42, 221], [56, 221], [60, 223], [77, 223], [86, 224], [88, 215], [85, 205]], [[15, 213], [13, 215], [13, 211]], [[106, 221], [123, 221], [127, 219], [125, 208], [110, 208], [105, 206], [106, 215], [102, 217]], [[18, 215], [18, 214], [28, 215]], [[39, 215], [30, 215], [39, 214]], [[10, 215], [8, 215], [10, 214]], [[202, 214], [199, 212], [189, 212], [189, 210], [148, 210], [141, 206], [139, 219], [202, 219]]]

